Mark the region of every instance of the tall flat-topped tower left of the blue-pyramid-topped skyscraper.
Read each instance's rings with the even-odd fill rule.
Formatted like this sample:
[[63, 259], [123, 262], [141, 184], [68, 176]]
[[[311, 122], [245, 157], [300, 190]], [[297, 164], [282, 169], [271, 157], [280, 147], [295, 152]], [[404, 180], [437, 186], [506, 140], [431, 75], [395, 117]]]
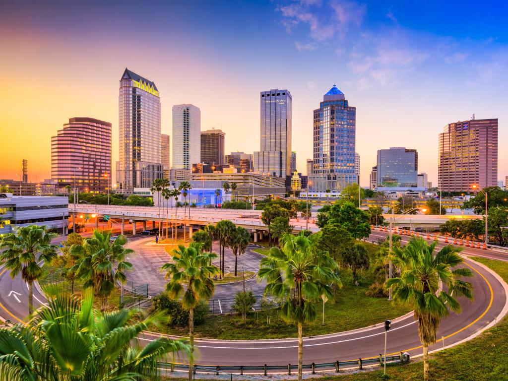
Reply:
[[271, 176], [291, 174], [291, 107], [288, 90], [261, 91], [261, 142], [254, 171]]

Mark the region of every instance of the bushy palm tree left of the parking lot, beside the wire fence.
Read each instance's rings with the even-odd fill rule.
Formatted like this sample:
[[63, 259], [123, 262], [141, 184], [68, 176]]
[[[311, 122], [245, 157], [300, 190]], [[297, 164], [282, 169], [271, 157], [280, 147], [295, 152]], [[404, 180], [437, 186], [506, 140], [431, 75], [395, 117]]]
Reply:
[[94, 295], [101, 299], [101, 310], [106, 308], [108, 297], [115, 287], [114, 282], [120, 283], [123, 297], [123, 284], [127, 280], [124, 272], [133, 269], [126, 259], [134, 250], [124, 247], [125, 237], [119, 235], [113, 242], [110, 238], [110, 232], [96, 230], [83, 244], [71, 248], [71, 253], [80, 258], [73, 270], [84, 281], [83, 288], [93, 287]]

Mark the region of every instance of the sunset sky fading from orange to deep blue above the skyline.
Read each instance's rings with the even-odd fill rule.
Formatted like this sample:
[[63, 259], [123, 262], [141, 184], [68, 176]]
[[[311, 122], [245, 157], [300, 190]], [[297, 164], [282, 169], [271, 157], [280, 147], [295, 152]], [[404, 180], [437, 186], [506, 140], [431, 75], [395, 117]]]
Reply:
[[[446, 3], [446, 4], [444, 4]], [[51, 176], [51, 136], [69, 118], [113, 123], [125, 69], [154, 81], [162, 133], [172, 105], [201, 109], [226, 153], [260, 148], [260, 91], [293, 97], [293, 150], [305, 174], [312, 112], [336, 84], [356, 107], [361, 184], [377, 149], [416, 148], [437, 184], [438, 134], [499, 119], [498, 179], [508, 175], [508, 3], [11, 1], [0, 13], [0, 179]], [[114, 164], [113, 164], [114, 168]], [[113, 174], [114, 175], [114, 174]]]

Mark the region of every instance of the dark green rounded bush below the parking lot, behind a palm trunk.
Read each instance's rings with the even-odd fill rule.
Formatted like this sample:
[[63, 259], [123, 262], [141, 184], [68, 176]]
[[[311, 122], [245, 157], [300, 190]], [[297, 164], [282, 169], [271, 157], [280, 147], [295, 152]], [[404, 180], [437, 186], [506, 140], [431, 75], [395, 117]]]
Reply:
[[[157, 295], [153, 298], [152, 308], [157, 311], [164, 311], [168, 315], [168, 325], [188, 327], [189, 311], [182, 308], [182, 304], [171, 299], [167, 293]], [[199, 325], [205, 321], [208, 315], [208, 304], [201, 302], [194, 309], [194, 324]]]

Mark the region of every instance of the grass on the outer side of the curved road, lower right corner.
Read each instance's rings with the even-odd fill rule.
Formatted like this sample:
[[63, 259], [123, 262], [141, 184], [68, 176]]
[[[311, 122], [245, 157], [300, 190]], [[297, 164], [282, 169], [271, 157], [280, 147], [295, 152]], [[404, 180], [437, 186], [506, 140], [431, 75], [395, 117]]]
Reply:
[[[473, 258], [508, 282], [508, 263], [485, 258]], [[388, 368], [389, 377], [383, 371], [350, 375], [320, 377], [334, 381], [419, 381], [423, 379], [423, 363]], [[491, 328], [479, 337], [431, 355], [430, 379], [433, 381], [506, 381], [508, 380], [508, 320], [503, 319], [497, 328]], [[318, 378], [316, 378], [316, 381]]]

